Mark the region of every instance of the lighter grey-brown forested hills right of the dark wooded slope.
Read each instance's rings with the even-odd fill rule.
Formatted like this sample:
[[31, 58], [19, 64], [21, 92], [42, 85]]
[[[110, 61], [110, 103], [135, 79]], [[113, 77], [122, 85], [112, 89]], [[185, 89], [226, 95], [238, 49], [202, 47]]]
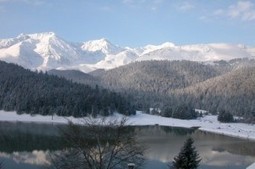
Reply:
[[[90, 81], [91, 85], [98, 84], [130, 95], [133, 104], [141, 110], [158, 107], [167, 116], [180, 108], [255, 114], [254, 60], [235, 59], [206, 64], [144, 61], [108, 71], [97, 70], [90, 75], [95, 79]], [[61, 76], [66, 77], [64, 73]], [[77, 79], [74, 77], [71, 79]]]

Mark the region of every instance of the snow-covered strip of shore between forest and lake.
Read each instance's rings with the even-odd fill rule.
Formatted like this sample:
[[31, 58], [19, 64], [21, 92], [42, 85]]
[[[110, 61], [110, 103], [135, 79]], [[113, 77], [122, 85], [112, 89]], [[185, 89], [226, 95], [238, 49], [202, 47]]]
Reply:
[[[106, 120], [121, 119], [123, 117], [123, 115], [114, 114], [107, 117]], [[217, 121], [217, 116], [212, 115], [201, 117], [195, 120], [180, 120], [138, 112], [134, 116], [127, 117], [127, 119], [128, 125], [133, 126], [161, 125], [183, 128], [198, 127], [198, 129], [201, 131], [255, 141], [255, 125], [244, 123], [220, 123]], [[52, 116], [31, 116], [29, 114], [18, 115], [16, 112], [0, 111], [0, 122], [8, 121], [67, 124], [68, 120], [79, 124], [82, 123], [83, 118], [53, 116], [52, 119]]]

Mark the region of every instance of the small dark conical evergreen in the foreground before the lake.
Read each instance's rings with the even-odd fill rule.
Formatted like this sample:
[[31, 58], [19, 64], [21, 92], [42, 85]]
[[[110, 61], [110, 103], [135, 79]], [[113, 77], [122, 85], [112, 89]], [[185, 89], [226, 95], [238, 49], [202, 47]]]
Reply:
[[174, 157], [172, 169], [197, 169], [201, 158], [193, 145], [194, 140], [188, 138], [180, 153]]

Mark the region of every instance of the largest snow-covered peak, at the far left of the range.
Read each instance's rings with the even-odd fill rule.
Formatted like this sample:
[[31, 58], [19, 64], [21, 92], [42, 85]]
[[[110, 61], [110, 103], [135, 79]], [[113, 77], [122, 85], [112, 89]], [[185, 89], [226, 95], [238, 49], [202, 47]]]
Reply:
[[70, 66], [79, 54], [67, 42], [52, 32], [21, 34], [0, 41], [0, 59], [29, 69], [47, 70]]

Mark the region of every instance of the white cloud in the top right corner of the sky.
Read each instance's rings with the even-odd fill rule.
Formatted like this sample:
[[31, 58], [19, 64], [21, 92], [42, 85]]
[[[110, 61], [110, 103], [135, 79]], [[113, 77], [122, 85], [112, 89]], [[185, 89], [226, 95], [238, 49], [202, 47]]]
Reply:
[[230, 5], [226, 9], [218, 9], [213, 12], [215, 16], [227, 16], [233, 19], [241, 19], [243, 21], [255, 20], [254, 3], [251, 1], [238, 1], [236, 4]]

